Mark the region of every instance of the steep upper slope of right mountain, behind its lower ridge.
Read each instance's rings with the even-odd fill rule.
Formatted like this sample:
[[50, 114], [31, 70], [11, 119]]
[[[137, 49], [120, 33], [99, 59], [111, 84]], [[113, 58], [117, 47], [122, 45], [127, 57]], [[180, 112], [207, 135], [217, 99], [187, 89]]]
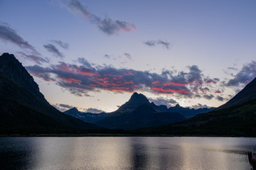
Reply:
[[247, 84], [247, 86], [245, 86], [245, 88], [242, 89], [242, 91], [240, 91], [237, 95], [231, 98], [230, 101], [223, 104], [223, 106], [218, 107], [217, 110], [220, 110], [223, 108], [229, 108], [231, 106], [236, 106], [244, 103], [245, 101], [250, 101], [255, 98], [256, 98], [256, 78], [250, 81], [250, 83]]

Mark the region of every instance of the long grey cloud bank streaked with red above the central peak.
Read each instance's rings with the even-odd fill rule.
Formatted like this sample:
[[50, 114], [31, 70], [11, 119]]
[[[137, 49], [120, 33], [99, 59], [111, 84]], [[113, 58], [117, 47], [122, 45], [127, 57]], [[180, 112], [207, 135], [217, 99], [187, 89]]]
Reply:
[[[79, 64], [59, 62], [51, 67], [38, 65], [26, 67], [33, 76], [45, 81], [55, 81], [58, 86], [77, 96], [86, 96], [88, 91], [151, 91], [154, 94], [177, 94], [189, 98], [203, 94], [201, 89], [207, 89], [205, 77], [196, 65], [189, 66], [187, 72], [172, 72], [163, 70], [161, 74], [134, 69], [116, 69], [111, 66], [102, 67], [90, 64], [84, 58], [78, 59]], [[210, 91], [210, 90], [209, 90]], [[206, 91], [204, 98], [211, 99]], [[161, 98], [159, 98], [160, 100]], [[171, 103], [171, 100], [166, 100]]]

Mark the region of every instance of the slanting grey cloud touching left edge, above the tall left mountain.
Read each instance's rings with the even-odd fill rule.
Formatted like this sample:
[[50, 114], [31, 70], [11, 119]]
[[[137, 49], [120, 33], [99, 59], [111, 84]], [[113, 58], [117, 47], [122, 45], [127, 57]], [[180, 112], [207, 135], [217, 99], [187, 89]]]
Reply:
[[26, 40], [23, 40], [23, 38], [21, 38], [21, 36], [16, 33], [16, 30], [10, 28], [9, 25], [6, 23], [0, 22], [0, 39], [7, 42], [12, 42], [18, 45], [18, 47], [32, 50], [33, 52], [38, 54], [35, 47], [30, 45]]

